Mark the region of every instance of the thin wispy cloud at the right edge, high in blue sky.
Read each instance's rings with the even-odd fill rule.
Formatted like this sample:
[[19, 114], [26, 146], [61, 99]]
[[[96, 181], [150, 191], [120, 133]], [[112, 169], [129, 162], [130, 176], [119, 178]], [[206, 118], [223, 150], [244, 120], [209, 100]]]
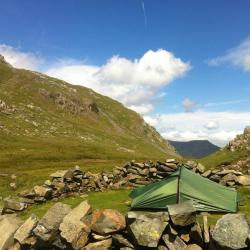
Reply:
[[250, 37], [236, 48], [227, 51], [225, 55], [210, 59], [207, 62], [211, 66], [230, 63], [242, 68], [244, 71], [250, 71]]

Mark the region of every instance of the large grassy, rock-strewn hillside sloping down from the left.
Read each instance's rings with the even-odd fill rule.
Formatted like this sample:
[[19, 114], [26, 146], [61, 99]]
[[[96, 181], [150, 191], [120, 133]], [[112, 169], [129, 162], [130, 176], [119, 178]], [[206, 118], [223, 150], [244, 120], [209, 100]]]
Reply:
[[0, 57], [0, 168], [176, 155], [136, 112]]

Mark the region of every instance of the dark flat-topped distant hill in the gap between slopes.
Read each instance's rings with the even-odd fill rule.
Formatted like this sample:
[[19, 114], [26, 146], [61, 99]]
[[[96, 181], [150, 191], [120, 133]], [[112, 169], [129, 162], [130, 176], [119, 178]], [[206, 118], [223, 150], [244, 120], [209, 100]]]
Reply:
[[178, 153], [184, 157], [202, 158], [220, 149], [207, 140], [193, 140], [187, 142], [169, 141]]

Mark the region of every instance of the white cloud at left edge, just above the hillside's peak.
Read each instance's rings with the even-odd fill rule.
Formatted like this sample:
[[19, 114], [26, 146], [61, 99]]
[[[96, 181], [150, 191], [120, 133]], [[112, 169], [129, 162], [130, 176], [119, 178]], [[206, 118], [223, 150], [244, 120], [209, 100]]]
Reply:
[[39, 70], [44, 63], [38, 54], [21, 52], [19, 49], [5, 44], [0, 44], [0, 54], [16, 68]]

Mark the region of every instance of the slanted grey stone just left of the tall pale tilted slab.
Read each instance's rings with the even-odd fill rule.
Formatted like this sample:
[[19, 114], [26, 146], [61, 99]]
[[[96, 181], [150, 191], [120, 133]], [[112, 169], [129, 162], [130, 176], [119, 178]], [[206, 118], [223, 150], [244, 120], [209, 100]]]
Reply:
[[69, 205], [57, 202], [51, 207], [39, 221], [34, 234], [44, 242], [54, 240], [63, 218], [71, 211]]

